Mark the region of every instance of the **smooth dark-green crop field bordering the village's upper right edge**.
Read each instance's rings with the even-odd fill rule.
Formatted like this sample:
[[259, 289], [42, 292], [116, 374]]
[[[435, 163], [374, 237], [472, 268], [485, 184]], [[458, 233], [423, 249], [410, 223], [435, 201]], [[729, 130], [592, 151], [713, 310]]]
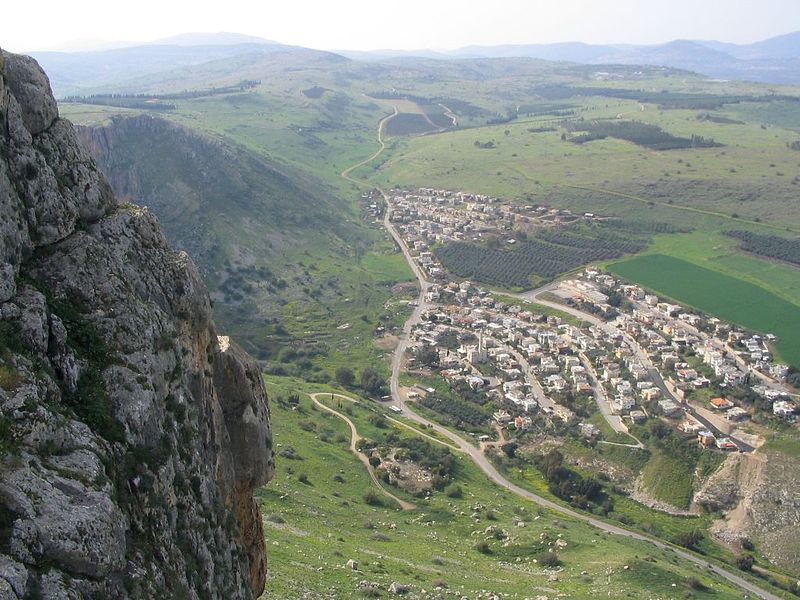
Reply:
[[800, 366], [800, 307], [796, 304], [741, 279], [661, 254], [613, 263], [609, 270], [721, 319], [778, 335], [780, 357]]

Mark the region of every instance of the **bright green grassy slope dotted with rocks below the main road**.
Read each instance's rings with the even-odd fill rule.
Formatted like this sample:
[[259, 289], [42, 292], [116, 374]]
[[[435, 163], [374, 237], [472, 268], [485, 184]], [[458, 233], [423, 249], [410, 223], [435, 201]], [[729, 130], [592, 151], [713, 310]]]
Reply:
[[[370, 505], [365, 498], [374, 484], [347, 449], [347, 426], [302, 394], [297, 406], [281, 401], [298, 391], [292, 382], [273, 379], [268, 388], [276, 449], [281, 456], [291, 448], [294, 458], [280, 459], [275, 480], [258, 495], [270, 554], [266, 598], [386, 596], [392, 582], [410, 586], [412, 598], [476, 597], [485, 590], [518, 599], [639, 597], [645, 590], [662, 598], [741, 596], [670, 552], [600, 534], [502, 492], [461, 457], [461, 497], [437, 491], [412, 498], [394, 489], [417, 509], [399, 511], [383, 500]], [[373, 405], [345, 410], [361, 435], [414, 436], [391, 422], [376, 427]], [[558, 567], [541, 564], [551, 548]], [[346, 566], [351, 559], [357, 571]], [[698, 589], [692, 578], [708, 588]], [[362, 581], [374, 591], [359, 589]]]

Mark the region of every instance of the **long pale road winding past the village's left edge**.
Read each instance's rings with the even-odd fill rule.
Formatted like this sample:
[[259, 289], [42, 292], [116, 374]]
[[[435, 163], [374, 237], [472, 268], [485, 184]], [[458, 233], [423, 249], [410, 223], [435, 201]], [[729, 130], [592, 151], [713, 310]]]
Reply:
[[[395, 113], [394, 114], [397, 114], [396, 107], [395, 107]], [[355, 168], [363, 166], [363, 165], [367, 164], [368, 162], [374, 160], [378, 156], [380, 156], [380, 154], [383, 152], [383, 150], [385, 148], [385, 144], [383, 142], [383, 126], [384, 126], [385, 122], [388, 119], [392, 118], [393, 116], [394, 115], [389, 115], [388, 117], [384, 117], [380, 121], [380, 123], [378, 124], [378, 143], [381, 145], [381, 148], [378, 150], [378, 152], [376, 152], [372, 157], [370, 157], [366, 161], [362, 161], [362, 162], [358, 163], [357, 165], [354, 165], [353, 167], [343, 171], [342, 172], [342, 177], [344, 177], [348, 181], [351, 181], [351, 182], [353, 182], [353, 183], [355, 183], [355, 184], [357, 184], [359, 186], [364, 186], [365, 185], [364, 182], [361, 182], [361, 181], [358, 181], [358, 180], [350, 178], [349, 177], [349, 173], [352, 172]], [[410, 336], [411, 329], [416, 324], [418, 324], [420, 322], [420, 320], [422, 318], [423, 311], [426, 310], [427, 308], [433, 306], [433, 304], [428, 303], [428, 302], [425, 301], [425, 295], [426, 295], [428, 289], [431, 286], [431, 282], [425, 276], [425, 273], [422, 271], [422, 269], [420, 269], [420, 267], [414, 261], [414, 259], [411, 256], [411, 253], [409, 252], [408, 246], [405, 244], [405, 241], [403, 240], [402, 236], [397, 231], [395, 226], [392, 224], [392, 221], [391, 221], [391, 199], [389, 198], [389, 196], [386, 194], [385, 191], [383, 191], [383, 190], [379, 190], [379, 191], [383, 195], [384, 201], [386, 202], [386, 211], [385, 211], [384, 220], [383, 220], [384, 227], [389, 232], [389, 234], [392, 236], [392, 238], [395, 240], [397, 245], [400, 247], [400, 250], [403, 252], [403, 256], [405, 257], [406, 261], [408, 262], [409, 267], [411, 268], [411, 270], [413, 271], [415, 277], [417, 278], [417, 281], [419, 283], [419, 288], [420, 288], [419, 289], [419, 298], [418, 298], [418, 301], [417, 301], [417, 306], [415, 307], [413, 313], [411, 314], [411, 316], [409, 317], [409, 319], [406, 321], [406, 323], [403, 326], [403, 331], [400, 334], [400, 341], [397, 344], [397, 347], [396, 347], [396, 349], [394, 351], [394, 356], [392, 357], [392, 368], [391, 368], [391, 379], [390, 379], [390, 388], [391, 388], [391, 398], [392, 399], [391, 399], [391, 402], [388, 403], [388, 405], [397, 407], [400, 410], [400, 414], [402, 414], [402, 416], [405, 417], [406, 419], [409, 419], [411, 421], [414, 421], [416, 423], [424, 425], [428, 429], [432, 429], [433, 431], [436, 431], [438, 434], [440, 434], [440, 435], [446, 437], [447, 439], [449, 439], [454, 444], [454, 446], [456, 446], [461, 452], [463, 452], [464, 454], [469, 455], [469, 457], [472, 459], [472, 461], [475, 463], [475, 465], [478, 468], [480, 468], [481, 471], [483, 471], [484, 474], [492, 482], [496, 483], [497, 485], [499, 485], [502, 488], [505, 488], [506, 490], [510, 491], [511, 493], [516, 494], [517, 496], [519, 496], [521, 498], [525, 498], [527, 500], [530, 500], [530, 501], [538, 504], [539, 506], [547, 508], [547, 509], [549, 509], [549, 510], [551, 510], [553, 512], [559, 513], [561, 515], [570, 517], [570, 518], [575, 519], [577, 521], [582, 521], [584, 523], [588, 523], [589, 525], [592, 525], [592, 526], [596, 527], [597, 529], [600, 529], [601, 531], [605, 531], [607, 533], [611, 533], [611, 534], [614, 534], [614, 535], [619, 535], [619, 536], [622, 536], [622, 537], [627, 537], [627, 538], [634, 539], [634, 540], [639, 540], [639, 541], [643, 541], [643, 542], [649, 542], [649, 543], [653, 544], [655, 547], [660, 548], [662, 550], [672, 551], [677, 556], [679, 556], [679, 557], [681, 557], [681, 558], [683, 558], [683, 559], [685, 559], [687, 561], [690, 561], [690, 562], [698, 565], [699, 567], [707, 568], [709, 571], [712, 571], [713, 573], [715, 573], [719, 577], [722, 577], [723, 579], [726, 579], [727, 581], [733, 583], [734, 585], [740, 587], [741, 589], [746, 590], [747, 592], [750, 592], [752, 594], [755, 594], [756, 596], [758, 596], [759, 598], [763, 598], [764, 600], [781, 600], [780, 596], [777, 596], [777, 595], [775, 595], [775, 594], [773, 594], [773, 593], [771, 593], [771, 592], [769, 592], [769, 591], [767, 591], [765, 589], [760, 588], [759, 586], [755, 585], [754, 583], [751, 583], [750, 581], [746, 580], [745, 578], [737, 575], [736, 573], [734, 573], [732, 571], [728, 571], [727, 569], [724, 569], [724, 568], [719, 567], [719, 566], [717, 566], [717, 565], [715, 565], [713, 563], [708, 562], [706, 559], [704, 559], [701, 556], [692, 554], [691, 552], [688, 552], [687, 550], [684, 550], [684, 549], [682, 549], [680, 547], [677, 547], [677, 546], [674, 546], [672, 544], [667, 544], [665, 542], [662, 542], [662, 541], [657, 540], [655, 538], [652, 538], [650, 536], [647, 536], [647, 535], [644, 535], [644, 534], [641, 534], [641, 533], [638, 533], [638, 532], [635, 532], [635, 531], [630, 531], [630, 530], [625, 529], [623, 527], [619, 527], [617, 525], [612, 525], [611, 523], [606, 523], [604, 521], [600, 521], [598, 519], [595, 519], [594, 517], [579, 513], [579, 512], [574, 511], [574, 510], [572, 510], [570, 508], [567, 508], [565, 506], [557, 504], [557, 503], [553, 502], [552, 500], [548, 500], [547, 498], [544, 498], [542, 496], [534, 494], [533, 492], [530, 492], [530, 491], [528, 491], [528, 490], [526, 490], [526, 489], [524, 489], [524, 488], [512, 483], [511, 481], [506, 479], [494, 467], [494, 465], [491, 462], [489, 462], [489, 460], [486, 458], [486, 456], [483, 454], [483, 452], [480, 449], [476, 448], [475, 446], [473, 446], [470, 442], [468, 442], [467, 440], [465, 440], [461, 436], [459, 436], [456, 433], [446, 429], [445, 427], [439, 425], [438, 423], [434, 423], [434, 422], [429, 421], [428, 419], [418, 415], [417, 413], [415, 413], [409, 407], [408, 403], [403, 399], [403, 397], [402, 397], [402, 395], [400, 393], [400, 384], [399, 384], [400, 371], [401, 371], [401, 368], [402, 368], [403, 357], [404, 357], [406, 349], [408, 348], [408, 345], [409, 345], [409, 336]], [[558, 310], [560, 310], [562, 312], [573, 314], [574, 316], [576, 316], [576, 317], [578, 317], [580, 319], [583, 319], [585, 321], [589, 321], [590, 323], [594, 323], [594, 324], [597, 324], [597, 325], [600, 325], [600, 326], [604, 326], [604, 325], [605, 326], [609, 326], [608, 324], [603, 323], [602, 321], [600, 321], [600, 319], [597, 319], [593, 315], [588, 315], [588, 314], [583, 313], [581, 311], [575, 310], [572, 307], [565, 307], [565, 306], [563, 306], [561, 304], [556, 304], [556, 303], [549, 302], [549, 301], [546, 301], [546, 300], [543, 301], [543, 300], [537, 299], [536, 296], [538, 294], [541, 294], [544, 291], [546, 291], [546, 289], [547, 288], [543, 288], [543, 289], [540, 289], [540, 290], [535, 290], [534, 293], [533, 293], [533, 296], [530, 299], [532, 299], [532, 300], [535, 299], [536, 302], [539, 303], [539, 304], [543, 304], [545, 306], [550, 306], [550, 307], [556, 308], [556, 309], [558, 309]], [[520, 297], [526, 297], [526, 295], [519, 295], [519, 296]], [[636, 346], [634, 346], [634, 349], [636, 347], [638, 347], [638, 344]], [[659, 375], [659, 377], [660, 377], [660, 375]], [[662, 384], [663, 384], [663, 381], [662, 381]], [[339, 416], [342, 417], [342, 418], [345, 418], [341, 414], [339, 414]], [[355, 428], [352, 425], [352, 423], [350, 423], [350, 425], [351, 425], [351, 428], [353, 428], [352, 431], [353, 431], [354, 438], [355, 438], [355, 435], [357, 435], [355, 433]]]

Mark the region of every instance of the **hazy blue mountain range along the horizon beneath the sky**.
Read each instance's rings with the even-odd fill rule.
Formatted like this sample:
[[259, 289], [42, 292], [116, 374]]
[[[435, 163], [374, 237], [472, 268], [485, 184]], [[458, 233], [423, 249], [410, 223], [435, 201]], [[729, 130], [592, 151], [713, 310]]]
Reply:
[[[84, 90], [108, 90], [123, 79], [146, 78], [176, 68], [237, 56], [279, 52], [333, 56], [328, 52], [288, 46], [236, 33], [188, 33], [143, 45], [31, 54], [49, 73], [56, 95], [63, 97], [81, 94]], [[372, 62], [409, 58], [452, 60], [522, 57], [591, 65], [657, 65], [694, 71], [719, 79], [800, 84], [800, 32], [744, 45], [689, 40], [675, 40], [651, 46], [566, 42], [468, 46], [448, 51], [341, 50], [336, 54], [353, 60]]]

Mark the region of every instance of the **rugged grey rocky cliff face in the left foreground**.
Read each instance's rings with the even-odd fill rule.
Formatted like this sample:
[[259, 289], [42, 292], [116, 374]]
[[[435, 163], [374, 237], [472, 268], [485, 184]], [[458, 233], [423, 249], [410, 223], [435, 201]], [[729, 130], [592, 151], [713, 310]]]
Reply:
[[38, 65], [7, 53], [0, 215], [0, 598], [259, 595], [259, 372]]

